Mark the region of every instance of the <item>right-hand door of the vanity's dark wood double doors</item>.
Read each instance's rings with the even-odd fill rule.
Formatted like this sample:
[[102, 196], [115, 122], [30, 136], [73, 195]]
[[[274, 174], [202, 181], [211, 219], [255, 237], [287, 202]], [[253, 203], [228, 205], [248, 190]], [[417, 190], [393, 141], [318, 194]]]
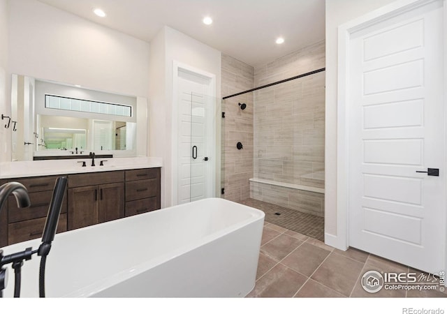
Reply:
[[98, 193], [98, 223], [124, 217], [124, 183], [102, 184]]

